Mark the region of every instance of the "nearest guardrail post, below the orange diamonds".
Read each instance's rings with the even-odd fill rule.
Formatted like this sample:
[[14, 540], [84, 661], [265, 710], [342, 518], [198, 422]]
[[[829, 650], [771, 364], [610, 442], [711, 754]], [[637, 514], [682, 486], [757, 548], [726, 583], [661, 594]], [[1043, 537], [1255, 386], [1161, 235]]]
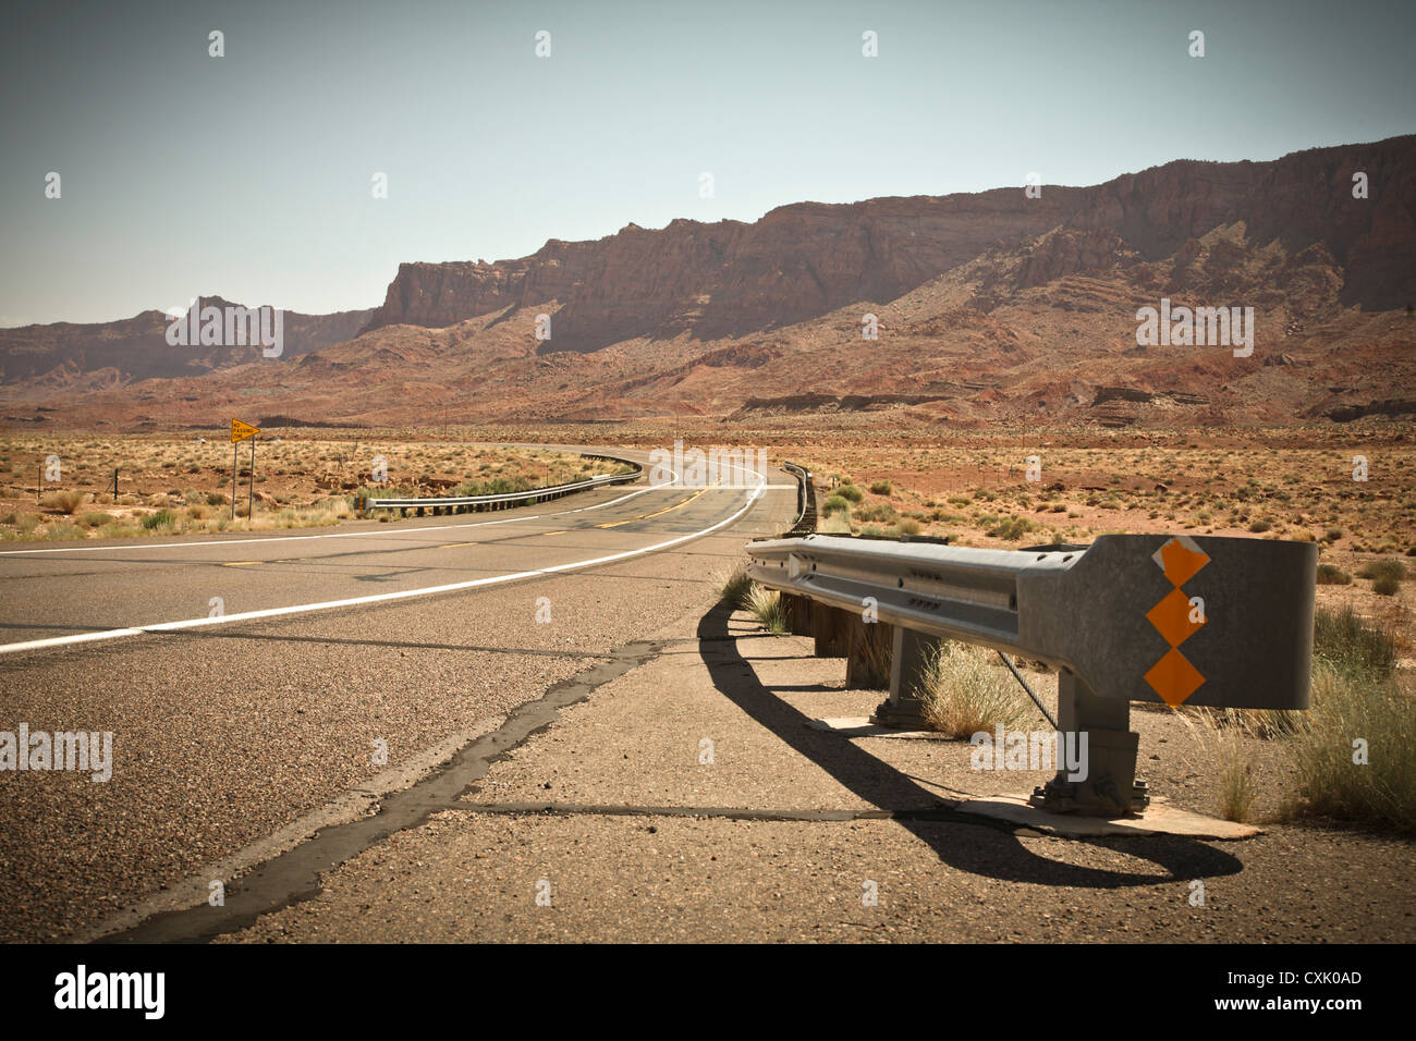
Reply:
[[[1146, 782], [1136, 779], [1140, 735], [1130, 728], [1130, 702], [1099, 697], [1075, 674], [1058, 676], [1059, 769], [1034, 789], [1034, 806], [1055, 813], [1123, 816], [1150, 803]], [[1085, 744], [1083, 744], [1085, 738]], [[1080, 752], [1076, 779], [1062, 765], [1063, 746]], [[1085, 773], [1085, 776], [1078, 776]]]

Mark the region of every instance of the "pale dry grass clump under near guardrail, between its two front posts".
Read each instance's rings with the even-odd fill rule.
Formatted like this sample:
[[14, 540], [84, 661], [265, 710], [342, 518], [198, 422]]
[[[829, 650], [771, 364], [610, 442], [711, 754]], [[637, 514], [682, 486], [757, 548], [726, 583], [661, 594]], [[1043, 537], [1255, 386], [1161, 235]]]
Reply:
[[1017, 729], [1031, 718], [1012, 677], [994, 669], [987, 652], [944, 642], [929, 652], [915, 695], [930, 729], [969, 738], [1001, 725]]

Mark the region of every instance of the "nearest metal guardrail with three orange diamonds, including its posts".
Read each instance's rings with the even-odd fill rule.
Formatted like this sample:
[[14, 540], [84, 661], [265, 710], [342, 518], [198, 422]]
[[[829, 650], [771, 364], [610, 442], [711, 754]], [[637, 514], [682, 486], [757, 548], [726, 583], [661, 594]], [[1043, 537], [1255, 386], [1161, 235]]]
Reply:
[[1059, 729], [1090, 735], [1093, 780], [1059, 773], [1038, 793], [1049, 809], [1144, 806], [1131, 701], [1308, 705], [1311, 542], [1102, 535], [1090, 545], [980, 550], [809, 535], [749, 542], [748, 555], [749, 576], [784, 595], [792, 630], [816, 636], [817, 654], [844, 654], [852, 670], [889, 639], [889, 700], [877, 722], [923, 722], [915, 687], [940, 640], [1055, 667]]

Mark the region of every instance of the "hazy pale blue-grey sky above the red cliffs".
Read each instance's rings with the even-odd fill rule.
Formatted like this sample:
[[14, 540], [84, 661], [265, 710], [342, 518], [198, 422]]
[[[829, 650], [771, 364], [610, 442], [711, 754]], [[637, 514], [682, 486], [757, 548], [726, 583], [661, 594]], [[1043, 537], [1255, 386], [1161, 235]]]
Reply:
[[6, 0], [0, 324], [370, 307], [401, 261], [630, 221], [1378, 140], [1416, 130], [1413, 28], [1352, 1]]

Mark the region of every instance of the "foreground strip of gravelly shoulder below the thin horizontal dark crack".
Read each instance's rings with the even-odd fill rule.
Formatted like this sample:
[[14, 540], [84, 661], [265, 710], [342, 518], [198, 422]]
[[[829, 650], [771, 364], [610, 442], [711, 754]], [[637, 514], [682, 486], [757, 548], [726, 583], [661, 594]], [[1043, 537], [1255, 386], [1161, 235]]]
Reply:
[[[1368, 838], [1357, 864], [1351, 847], [1291, 829], [1216, 853], [983, 824], [447, 813], [231, 939], [1409, 942], [1409, 867], [1372, 885], [1365, 865], [1409, 850]], [[1202, 908], [1189, 877], [1205, 881]], [[541, 880], [551, 906], [537, 905]]]

